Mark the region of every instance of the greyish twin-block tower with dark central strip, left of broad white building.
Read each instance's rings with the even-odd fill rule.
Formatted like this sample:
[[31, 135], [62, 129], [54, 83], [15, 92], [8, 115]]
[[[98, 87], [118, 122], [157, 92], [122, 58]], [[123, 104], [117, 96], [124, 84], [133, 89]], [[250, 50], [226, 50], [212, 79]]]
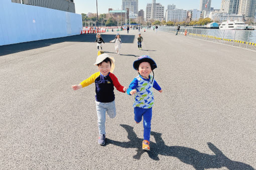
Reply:
[[147, 3], [147, 7], [146, 7], [146, 20], [150, 20], [150, 19], [157, 19], [157, 20], [164, 20], [165, 16], [165, 6], [163, 6], [161, 3], [156, 3], [155, 4], [155, 14], [153, 14], [153, 18], [152, 16], [152, 3]]

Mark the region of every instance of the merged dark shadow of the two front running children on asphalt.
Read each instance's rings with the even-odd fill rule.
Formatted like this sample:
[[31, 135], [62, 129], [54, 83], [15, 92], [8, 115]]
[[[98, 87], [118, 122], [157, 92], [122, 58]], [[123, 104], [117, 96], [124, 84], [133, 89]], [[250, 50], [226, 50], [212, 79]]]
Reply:
[[155, 142], [150, 142], [151, 150], [142, 150], [142, 138], [138, 138], [134, 132], [132, 126], [126, 124], [120, 124], [128, 133], [127, 138], [130, 141], [115, 141], [106, 139], [106, 144], [114, 144], [124, 148], [137, 148], [137, 154], [133, 157], [140, 159], [144, 152], [149, 154], [154, 160], [159, 160], [158, 155], [174, 156], [179, 158], [182, 162], [191, 164], [195, 169], [205, 168], [221, 168], [227, 167], [228, 169], [254, 169], [248, 164], [233, 161], [227, 158], [214, 144], [208, 142], [208, 147], [215, 153], [214, 155], [199, 152], [196, 149], [184, 147], [184, 146], [167, 146], [161, 137], [161, 133], [151, 131], [151, 135], [154, 136]]

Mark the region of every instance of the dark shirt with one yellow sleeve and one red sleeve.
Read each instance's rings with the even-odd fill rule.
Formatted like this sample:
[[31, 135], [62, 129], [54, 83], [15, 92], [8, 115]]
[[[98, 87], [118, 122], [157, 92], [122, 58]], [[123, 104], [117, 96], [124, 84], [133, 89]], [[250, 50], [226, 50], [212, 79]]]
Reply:
[[95, 99], [99, 102], [111, 102], [114, 100], [114, 86], [118, 91], [123, 91], [123, 86], [119, 83], [117, 77], [109, 72], [104, 76], [100, 72], [95, 72], [89, 78], [80, 82], [82, 87], [95, 82]]

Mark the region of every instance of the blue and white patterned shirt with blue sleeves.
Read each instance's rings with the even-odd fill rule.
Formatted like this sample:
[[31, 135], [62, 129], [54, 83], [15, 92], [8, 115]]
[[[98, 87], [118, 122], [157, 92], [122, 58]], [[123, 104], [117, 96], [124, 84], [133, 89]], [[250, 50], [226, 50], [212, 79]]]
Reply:
[[[153, 95], [153, 88], [157, 90], [161, 90], [161, 87], [158, 85], [157, 81], [154, 79], [152, 81], [152, 76], [150, 75], [150, 79], [143, 78], [141, 75], [138, 75], [134, 78], [134, 80], [129, 85], [127, 89], [127, 94], [130, 94], [130, 91], [136, 89], [137, 92], [135, 93], [135, 101], [133, 106], [134, 107], [141, 107], [141, 108], [151, 108], [154, 105], [154, 95]], [[131, 94], [130, 94], [131, 95]]]

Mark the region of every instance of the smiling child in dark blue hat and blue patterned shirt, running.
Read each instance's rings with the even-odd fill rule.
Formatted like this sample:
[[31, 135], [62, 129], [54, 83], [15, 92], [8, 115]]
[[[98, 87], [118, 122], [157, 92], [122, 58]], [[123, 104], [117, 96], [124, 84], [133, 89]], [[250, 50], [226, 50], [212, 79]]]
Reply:
[[[139, 75], [129, 85], [127, 94], [135, 94], [133, 107], [136, 123], [141, 122], [143, 117], [144, 140], [142, 142], [142, 149], [150, 150], [152, 106], [154, 105], [153, 87], [159, 92], [163, 92], [163, 90], [154, 79], [153, 70], [157, 68], [157, 64], [150, 56], [140, 56], [134, 61], [133, 66]], [[151, 71], [153, 76], [150, 75]]]

